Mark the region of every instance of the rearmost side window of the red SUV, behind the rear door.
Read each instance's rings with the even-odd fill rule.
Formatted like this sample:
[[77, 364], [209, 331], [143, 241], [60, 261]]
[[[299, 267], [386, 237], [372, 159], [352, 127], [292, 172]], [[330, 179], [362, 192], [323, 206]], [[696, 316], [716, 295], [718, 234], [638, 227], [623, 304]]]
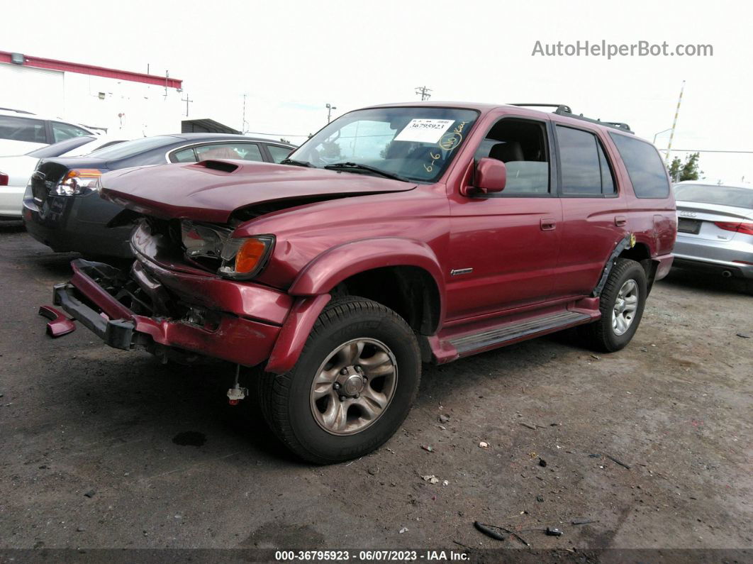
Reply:
[[609, 133], [620, 152], [633, 191], [639, 198], [666, 198], [669, 196], [669, 178], [666, 175], [664, 163], [651, 143]]

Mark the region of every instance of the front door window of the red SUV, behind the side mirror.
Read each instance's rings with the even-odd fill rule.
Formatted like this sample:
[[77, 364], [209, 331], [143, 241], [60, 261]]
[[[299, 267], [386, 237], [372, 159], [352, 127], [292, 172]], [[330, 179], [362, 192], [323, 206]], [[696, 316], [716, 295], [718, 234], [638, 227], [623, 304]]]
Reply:
[[501, 160], [508, 169], [505, 190], [488, 197], [549, 194], [549, 151], [544, 123], [506, 117], [495, 123], [474, 159]]

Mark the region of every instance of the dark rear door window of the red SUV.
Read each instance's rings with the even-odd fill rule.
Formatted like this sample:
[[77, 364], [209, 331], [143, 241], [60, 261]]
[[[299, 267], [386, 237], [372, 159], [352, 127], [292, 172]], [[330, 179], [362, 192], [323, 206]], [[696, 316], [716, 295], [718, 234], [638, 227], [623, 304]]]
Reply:
[[557, 126], [562, 194], [602, 196], [614, 194], [609, 161], [593, 133]]

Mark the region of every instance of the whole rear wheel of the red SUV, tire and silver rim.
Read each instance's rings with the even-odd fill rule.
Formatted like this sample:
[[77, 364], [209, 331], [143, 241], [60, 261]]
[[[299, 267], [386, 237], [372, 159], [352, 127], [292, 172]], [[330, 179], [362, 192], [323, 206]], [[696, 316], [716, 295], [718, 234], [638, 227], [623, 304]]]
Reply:
[[601, 319], [578, 328], [586, 344], [602, 352], [615, 352], [630, 343], [643, 316], [647, 286], [645, 270], [639, 263], [618, 258], [599, 300]]

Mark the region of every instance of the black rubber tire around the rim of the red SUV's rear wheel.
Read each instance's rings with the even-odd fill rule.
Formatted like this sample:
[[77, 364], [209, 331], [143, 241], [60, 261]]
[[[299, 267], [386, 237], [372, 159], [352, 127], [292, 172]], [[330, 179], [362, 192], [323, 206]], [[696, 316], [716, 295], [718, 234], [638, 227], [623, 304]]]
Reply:
[[[636, 282], [638, 288], [637, 309], [627, 330], [623, 334], [617, 334], [612, 327], [614, 304], [620, 288], [631, 279]], [[599, 302], [599, 309], [602, 312], [601, 319], [588, 325], [581, 325], [578, 328], [578, 333], [584, 340], [584, 344], [600, 352], [615, 352], [623, 349], [636, 334], [643, 316], [647, 295], [646, 273], [643, 267], [629, 258], [618, 258], [602, 290]]]

